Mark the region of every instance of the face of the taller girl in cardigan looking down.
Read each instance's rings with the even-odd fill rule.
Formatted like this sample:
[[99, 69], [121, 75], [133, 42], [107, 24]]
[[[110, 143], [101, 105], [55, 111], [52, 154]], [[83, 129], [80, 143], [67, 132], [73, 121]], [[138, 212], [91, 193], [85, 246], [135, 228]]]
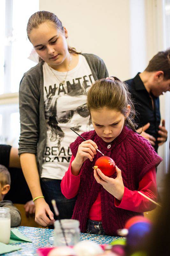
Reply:
[[62, 64], [69, 54], [66, 41], [67, 30], [64, 28], [64, 31], [65, 34], [55, 28], [52, 23], [44, 22], [38, 28], [33, 28], [29, 35], [35, 51], [53, 68]]

